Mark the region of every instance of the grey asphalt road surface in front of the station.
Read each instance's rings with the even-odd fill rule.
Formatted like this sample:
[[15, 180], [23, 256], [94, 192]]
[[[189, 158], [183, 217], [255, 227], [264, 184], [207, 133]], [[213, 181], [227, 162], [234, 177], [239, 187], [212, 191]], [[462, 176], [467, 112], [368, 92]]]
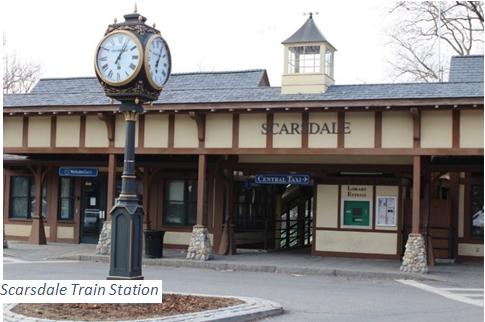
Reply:
[[[33, 250], [17, 245], [21, 243], [11, 243], [10, 250], [4, 251], [4, 279], [105, 279], [108, 275], [109, 265], [104, 262], [54, 259], [72, 256], [69, 247], [50, 245], [49, 250], [42, 248], [37, 256], [29, 257], [28, 253]], [[79, 252], [76, 246], [80, 245], [72, 246], [74, 253]], [[85, 245], [80, 247], [90, 249]], [[264, 256], [268, 254], [239, 256], [251, 255], [256, 256], [254, 261], [259, 255], [263, 255], [259, 261], [270, 261]], [[167, 253], [167, 256], [180, 258], [183, 253]], [[276, 254], [276, 257], [285, 256]], [[303, 263], [306, 260], [309, 259], [300, 259]], [[291, 261], [298, 259], [287, 259], [284, 263]], [[447, 265], [439, 272], [439, 279], [408, 279], [417, 283], [413, 284], [378, 276], [143, 267], [146, 279], [163, 280], [164, 291], [260, 297], [283, 305], [284, 315], [265, 321], [483, 321], [483, 265]]]

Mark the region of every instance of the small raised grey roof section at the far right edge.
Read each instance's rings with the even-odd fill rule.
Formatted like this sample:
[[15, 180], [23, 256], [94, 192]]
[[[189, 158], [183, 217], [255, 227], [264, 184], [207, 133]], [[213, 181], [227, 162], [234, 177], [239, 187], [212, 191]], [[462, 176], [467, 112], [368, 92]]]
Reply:
[[453, 56], [450, 63], [450, 82], [483, 82], [483, 55]]

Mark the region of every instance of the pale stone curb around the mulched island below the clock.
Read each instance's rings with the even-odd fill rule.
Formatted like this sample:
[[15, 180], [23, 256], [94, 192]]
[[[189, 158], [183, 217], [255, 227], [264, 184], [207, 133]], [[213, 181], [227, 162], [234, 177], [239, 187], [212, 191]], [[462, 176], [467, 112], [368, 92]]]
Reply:
[[[283, 314], [283, 307], [273, 301], [260, 299], [256, 297], [239, 297], [239, 296], [225, 296], [225, 295], [207, 295], [207, 294], [192, 294], [192, 293], [172, 293], [184, 295], [199, 295], [205, 297], [225, 297], [234, 298], [246, 303], [220, 308], [216, 310], [201, 311], [195, 313], [171, 315], [167, 317], [148, 318], [140, 320], [126, 320], [133, 322], [248, 322], [266, 318], [269, 316]], [[80, 322], [82, 320], [49, 320], [42, 318], [26, 317], [12, 312], [11, 310], [17, 304], [4, 304], [3, 306], [3, 321], [5, 322]], [[90, 321], [96, 322], [96, 321]], [[106, 320], [105, 320], [106, 322]]]

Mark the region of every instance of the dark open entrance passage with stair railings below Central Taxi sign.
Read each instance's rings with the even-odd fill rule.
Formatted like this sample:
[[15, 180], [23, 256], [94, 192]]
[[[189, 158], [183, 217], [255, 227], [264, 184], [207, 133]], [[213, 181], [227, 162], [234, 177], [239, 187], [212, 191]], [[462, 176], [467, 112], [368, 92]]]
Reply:
[[279, 250], [312, 244], [313, 187], [235, 182], [238, 248]]

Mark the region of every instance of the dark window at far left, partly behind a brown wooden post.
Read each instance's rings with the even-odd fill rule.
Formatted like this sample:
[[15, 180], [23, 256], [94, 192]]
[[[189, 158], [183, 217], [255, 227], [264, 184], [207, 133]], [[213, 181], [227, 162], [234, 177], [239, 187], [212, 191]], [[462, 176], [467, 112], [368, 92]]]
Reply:
[[[35, 211], [35, 180], [31, 176], [10, 179], [10, 218], [32, 218]], [[47, 214], [47, 185], [42, 184], [42, 217]]]

